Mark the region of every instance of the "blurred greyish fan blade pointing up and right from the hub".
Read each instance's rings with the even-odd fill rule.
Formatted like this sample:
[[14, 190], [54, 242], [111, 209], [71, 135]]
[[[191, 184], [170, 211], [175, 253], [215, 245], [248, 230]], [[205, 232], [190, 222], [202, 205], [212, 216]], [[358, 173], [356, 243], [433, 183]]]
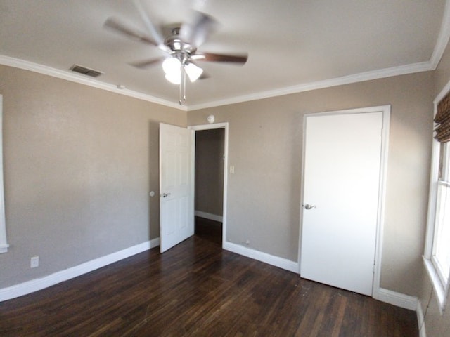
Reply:
[[212, 16], [202, 12], [193, 11], [192, 22], [184, 23], [180, 29], [181, 39], [198, 47], [206, 41], [214, 31], [217, 21]]

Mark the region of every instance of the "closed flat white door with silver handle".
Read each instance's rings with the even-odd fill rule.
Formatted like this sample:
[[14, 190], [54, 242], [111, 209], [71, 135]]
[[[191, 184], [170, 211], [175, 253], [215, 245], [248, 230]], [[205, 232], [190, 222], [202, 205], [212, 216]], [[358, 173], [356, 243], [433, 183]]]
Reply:
[[371, 295], [383, 112], [306, 117], [300, 275]]

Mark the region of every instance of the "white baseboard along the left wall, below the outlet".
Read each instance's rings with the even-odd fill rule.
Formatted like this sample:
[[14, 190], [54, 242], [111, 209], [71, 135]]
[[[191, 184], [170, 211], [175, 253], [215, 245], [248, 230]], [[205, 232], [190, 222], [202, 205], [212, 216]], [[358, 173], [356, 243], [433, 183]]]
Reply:
[[27, 295], [27, 293], [33, 293], [34, 291], [48, 288], [49, 286], [67, 281], [68, 279], [73, 279], [77, 276], [104, 267], [105, 265], [110, 265], [111, 263], [123, 260], [124, 258], [129, 258], [129, 256], [147, 251], [148, 249], [159, 245], [160, 238], [157, 237], [156, 239], [143, 242], [142, 244], [137, 244], [136, 246], [131, 246], [127, 249], [122, 249], [122, 251], [116, 251], [115, 253], [90, 260], [86, 263], [82, 263], [81, 265], [76, 265], [75, 267], [61, 270], [60, 272], [55, 272], [46, 277], [41, 277], [40, 279], [32, 279], [31, 281], [8, 286], [6, 288], [0, 289], [0, 302], [4, 300], [11, 300], [12, 298]]

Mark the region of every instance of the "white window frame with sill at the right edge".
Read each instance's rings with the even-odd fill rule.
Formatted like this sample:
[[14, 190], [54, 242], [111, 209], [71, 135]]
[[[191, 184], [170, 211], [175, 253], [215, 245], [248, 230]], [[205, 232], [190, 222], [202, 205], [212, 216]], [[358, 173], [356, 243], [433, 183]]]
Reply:
[[[442, 91], [437, 95], [435, 100], [433, 101], [434, 105], [434, 114], [436, 116], [437, 113], [437, 105], [442, 98], [445, 97], [447, 93], [450, 92], [450, 81], [446, 84], [446, 86], [442, 89]], [[434, 126], [434, 124], [433, 124]], [[433, 132], [432, 132], [433, 133]], [[450, 276], [447, 279], [444, 278], [442, 272], [440, 272], [439, 267], [437, 267], [437, 260], [434, 258], [433, 253], [435, 251], [435, 240], [437, 239], [437, 230], [436, 230], [436, 220], [437, 220], [437, 212], [439, 211], [438, 205], [438, 192], [439, 185], [447, 185], [448, 181], [444, 182], [439, 180], [441, 174], [439, 174], [440, 170], [447, 171], [450, 169], [449, 167], [441, 167], [440, 159], [442, 155], [442, 147], [441, 143], [439, 143], [434, 137], [432, 138], [432, 157], [431, 157], [431, 172], [430, 172], [430, 192], [429, 192], [429, 202], [428, 202], [428, 218], [427, 218], [427, 231], [425, 237], [425, 251], [423, 254], [423, 262], [425, 263], [425, 270], [428, 272], [428, 276], [432, 282], [433, 291], [437, 298], [437, 303], [439, 306], [439, 311], [444, 312], [446, 308], [446, 298], [449, 293], [450, 287]], [[450, 155], [450, 144], [446, 145], [446, 157], [448, 159]], [[446, 160], [448, 163], [448, 160]], [[442, 173], [445, 174], [445, 173]]]

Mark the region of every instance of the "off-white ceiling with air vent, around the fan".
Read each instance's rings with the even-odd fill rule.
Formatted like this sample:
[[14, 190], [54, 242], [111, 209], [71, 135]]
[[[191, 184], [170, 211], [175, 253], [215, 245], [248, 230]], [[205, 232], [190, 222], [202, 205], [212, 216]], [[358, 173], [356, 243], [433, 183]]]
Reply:
[[[431, 70], [450, 34], [445, 0], [143, 1], [155, 24], [212, 15], [220, 25], [199, 51], [248, 52], [243, 67], [201, 62], [210, 78], [188, 84], [184, 109]], [[145, 31], [133, 1], [0, 0], [0, 62], [87, 81], [68, 71], [77, 63], [104, 72], [93, 85], [176, 107], [160, 65], [127, 63], [162, 52], [103, 29], [110, 16]]]

